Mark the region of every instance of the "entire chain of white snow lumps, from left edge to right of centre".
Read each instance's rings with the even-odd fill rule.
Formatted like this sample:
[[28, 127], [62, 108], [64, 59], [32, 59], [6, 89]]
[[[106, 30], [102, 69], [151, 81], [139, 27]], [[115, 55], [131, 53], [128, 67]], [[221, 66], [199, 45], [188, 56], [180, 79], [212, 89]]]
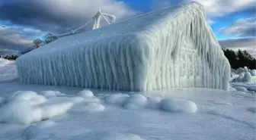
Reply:
[[[42, 92], [41, 92], [42, 93]], [[52, 96], [49, 93], [55, 91], [44, 91], [43, 95], [32, 91], [18, 91], [8, 96], [8, 101], [0, 106], [0, 122], [1, 123], [18, 123], [30, 124], [37, 123], [41, 120], [66, 114], [67, 112], [99, 112], [105, 109], [104, 104], [117, 105], [125, 109], [162, 109], [170, 112], [197, 112], [197, 105], [191, 101], [181, 101], [176, 99], [162, 99], [158, 101], [148, 101], [146, 96], [141, 94], [110, 94], [105, 95], [103, 101], [94, 97], [93, 92], [83, 90], [78, 92], [78, 96]], [[82, 94], [87, 93], [87, 94]], [[80, 95], [89, 96], [80, 96]], [[50, 97], [50, 98], [49, 98]], [[152, 99], [151, 99], [152, 100]], [[155, 106], [155, 107], [154, 107]]]

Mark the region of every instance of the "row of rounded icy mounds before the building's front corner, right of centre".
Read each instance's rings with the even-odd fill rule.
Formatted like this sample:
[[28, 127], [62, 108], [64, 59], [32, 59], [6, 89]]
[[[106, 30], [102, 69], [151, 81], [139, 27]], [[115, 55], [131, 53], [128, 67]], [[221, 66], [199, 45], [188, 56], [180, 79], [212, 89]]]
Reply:
[[169, 112], [196, 113], [197, 104], [181, 99], [168, 99], [159, 97], [146, 97], [145, 95], [114, 94], [104, 98], [106, 104], [114, 104], [128, 110], [149, 108]]

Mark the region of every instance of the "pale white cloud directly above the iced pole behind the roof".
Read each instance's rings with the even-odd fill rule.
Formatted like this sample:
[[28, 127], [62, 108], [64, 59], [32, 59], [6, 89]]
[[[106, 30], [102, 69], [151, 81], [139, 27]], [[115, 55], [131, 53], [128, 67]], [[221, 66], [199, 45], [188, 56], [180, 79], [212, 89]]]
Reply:
[[33, 2], [40, 7], [49, 8], [50, 14], [67, 18], [88, 19], [96, 14], [99, 8], [104, 12], [116, 15], [117, 18], [136, 13], [122, 2], [115, 0], [33, 0]]

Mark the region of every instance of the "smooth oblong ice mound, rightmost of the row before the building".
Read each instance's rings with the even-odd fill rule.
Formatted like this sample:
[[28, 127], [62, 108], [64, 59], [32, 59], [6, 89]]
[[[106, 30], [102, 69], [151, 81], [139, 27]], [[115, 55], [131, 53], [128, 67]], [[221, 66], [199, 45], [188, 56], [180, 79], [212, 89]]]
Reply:
[[163, 99], [160, 102], [162, 110], [169, 112], [185, 112], [185, 113], [196, 113], [197, 104], [192, 101], [185, 101], [179, 99]]

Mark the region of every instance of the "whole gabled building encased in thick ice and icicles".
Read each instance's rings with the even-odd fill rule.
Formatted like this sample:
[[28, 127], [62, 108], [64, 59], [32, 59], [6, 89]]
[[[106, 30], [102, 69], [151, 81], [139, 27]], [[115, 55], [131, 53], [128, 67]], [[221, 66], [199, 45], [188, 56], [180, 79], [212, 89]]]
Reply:
[[229, 89], [230, 65], [191, 2], [61, 39], [17, 60], [22, 82], [147, 91]]

